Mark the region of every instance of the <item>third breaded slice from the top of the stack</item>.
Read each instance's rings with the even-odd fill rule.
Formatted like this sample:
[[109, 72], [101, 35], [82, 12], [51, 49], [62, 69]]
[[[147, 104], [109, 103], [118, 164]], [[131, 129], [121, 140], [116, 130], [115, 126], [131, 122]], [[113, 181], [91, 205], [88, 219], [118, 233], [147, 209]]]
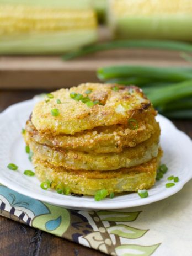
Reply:
[[54, 166], [63, 166], [69, 169], [82, 170], [116, 170], [129, 168], [150, 161], [157, 157], [159, 144], [158, 129], [148, 140], [136, 147], [125, 148], [120, 153], [92, 154], [72, 150], [58, 150], [46, 145], [40, 145], [25, 134], [26, 144], [34, 152], [34, 155], [43, 161], [48, 161]]

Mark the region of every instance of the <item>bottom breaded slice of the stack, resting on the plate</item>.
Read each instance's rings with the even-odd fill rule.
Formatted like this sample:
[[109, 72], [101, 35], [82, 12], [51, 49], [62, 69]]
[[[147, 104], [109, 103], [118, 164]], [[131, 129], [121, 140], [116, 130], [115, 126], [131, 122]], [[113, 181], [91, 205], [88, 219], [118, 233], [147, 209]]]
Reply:
[[90, 172], [84, 170], [68, 170], [55, 167], [46, 161], [34, 158], [35, 174], [40, 181], [50, 180], [70, 188], [70, 192], [84, 195], [95, 195], [97, 190], [106, 189], [108, 193], [122, 193], [149, 189], [156, 179], [156, 170], [159, 165], [162, 151], [151, 161], [140, 166], [108, 172]]

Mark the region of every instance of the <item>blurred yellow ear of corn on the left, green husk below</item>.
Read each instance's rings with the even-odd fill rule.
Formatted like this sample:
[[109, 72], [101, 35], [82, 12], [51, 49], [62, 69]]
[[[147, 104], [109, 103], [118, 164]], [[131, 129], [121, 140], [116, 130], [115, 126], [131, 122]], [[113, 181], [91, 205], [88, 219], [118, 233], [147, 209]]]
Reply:
[[13, 4], [0, 1], [0, 54], [66, 52], [97, 39], [97, 20], [89, 7], [77, 9], [65, 0], [61, 7], [60, 0], [56, 7], [54, 2], [43, 6], [42, 0], [30, 6], [24, 0], [7, 2]]

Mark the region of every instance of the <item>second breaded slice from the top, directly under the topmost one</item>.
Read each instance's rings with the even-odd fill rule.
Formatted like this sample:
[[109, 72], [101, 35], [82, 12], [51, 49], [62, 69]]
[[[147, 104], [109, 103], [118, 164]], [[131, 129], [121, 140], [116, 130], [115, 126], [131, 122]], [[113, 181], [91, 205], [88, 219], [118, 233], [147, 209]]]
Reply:
[[90, 153], [119, 153], [125, 147], [135, 147], [146, 141], [159, 129], [154, 118], [154, 111], [144, 120], [137, 120], [138, 128], [132, 129], [129, 124], [96, 127], [93, 130], [78, 132], [74, 135], [40, 134], [30, 120], [26, 131], [33, 139], [43, 145], [62, 150], [77, 150]]

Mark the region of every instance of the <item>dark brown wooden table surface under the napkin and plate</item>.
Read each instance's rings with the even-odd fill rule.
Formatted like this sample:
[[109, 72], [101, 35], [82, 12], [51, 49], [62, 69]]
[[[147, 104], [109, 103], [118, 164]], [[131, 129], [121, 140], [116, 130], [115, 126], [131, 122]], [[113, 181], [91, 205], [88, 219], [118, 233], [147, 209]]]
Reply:
[[[0, 90], [0, 111], [41, 92], [40, 90]], [[192, 137], [192, 121], [173, 120], [173, 122], [180, 130]], [[0, 216], [0, 255], [102, 256], [105, 254]]]

